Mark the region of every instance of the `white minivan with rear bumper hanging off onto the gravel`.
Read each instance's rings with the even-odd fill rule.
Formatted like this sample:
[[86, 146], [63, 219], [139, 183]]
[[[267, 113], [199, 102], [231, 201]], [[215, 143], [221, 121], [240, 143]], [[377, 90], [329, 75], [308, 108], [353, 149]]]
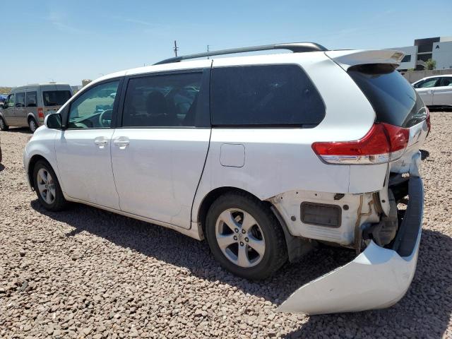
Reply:
[[[263, 49], [293, 53], [185, 61]], [[206, 239], [249, 279], [314, 244], [343, 246], [357, 258], [279, 310], [389, 307], [415, 273], [429, 131], [428, 110], [395, 70], [402, 57], [277, 44], [103, 76], [26, 145], [30, 187], [48, 210], [75, 201]]]

